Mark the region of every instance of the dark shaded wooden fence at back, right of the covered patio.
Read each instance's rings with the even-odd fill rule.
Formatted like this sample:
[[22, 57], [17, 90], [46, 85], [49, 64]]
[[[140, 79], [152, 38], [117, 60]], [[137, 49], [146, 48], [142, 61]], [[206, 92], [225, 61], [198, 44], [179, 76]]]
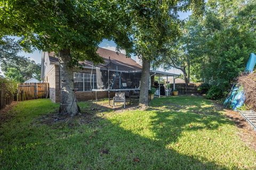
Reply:
[[[173, 84], [170, 84], [173, 89]], [[200, 92], [197, 88], [201, 85], [201, 83], [189, 83], [187, 87], [187, 94], [199, 94]], [[186, 84], [185, 83], [177, 83], [175, 84], [175, 89], [179, 91], [179, 94], [186, 94]]]

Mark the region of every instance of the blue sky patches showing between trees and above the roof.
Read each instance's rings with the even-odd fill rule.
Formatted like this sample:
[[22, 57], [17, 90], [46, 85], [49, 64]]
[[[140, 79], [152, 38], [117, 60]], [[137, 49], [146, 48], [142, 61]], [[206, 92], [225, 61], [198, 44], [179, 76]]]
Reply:
[[[181, 20], [186, 19], [186, 18], [188, 18], [188, 16], [190, 14], [191, 14], [191, 12], [189, 12], [189, 11], [188, 12], [179, 12], [179, 18]], [[13, 37], [13, 38], [17, 38], [17, 37]], [[108, 41], [105, 39], [100, 43], [99, 47], [107, 48], [110, 50], [115, 50], [116, 44], [114, 43], [114, 41]], [[34, 60], [36, 63], [41, 63], [41, 54], [42, 54], [42, 51], [34, 50], [33, 53], [21, 52], [19, 55], [29, 57], [31, 60]], [[1, 68], [0, 68], [0, 72], [1, 72]]]

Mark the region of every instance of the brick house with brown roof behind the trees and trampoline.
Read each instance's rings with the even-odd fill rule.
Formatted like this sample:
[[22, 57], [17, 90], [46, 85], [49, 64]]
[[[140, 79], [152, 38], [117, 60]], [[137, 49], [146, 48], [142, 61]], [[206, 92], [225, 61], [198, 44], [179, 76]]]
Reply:
[[[74, 89], [78, 101], [95, 99], [98, 89], [98, 98], [108, 97], [108, 89], [139, 88], [142, 66], [125, 54], [98, 48], [97, 53], [103, 58], [103, 63], [93, 65], [90, 61], [79, 62], [82, 69], [74, 69]], [[42, 53], [41, 79], [48, 82], [50, 99], [56, 103], [60, 101], [60, 68], [59, 60], [53, 52]], [[151, 81], [154, 76], [179, 76], [159, 71], [150, 71]], [[111, 84], [109, 80], [111, 79]], [[108, 83], [108, 84], [107, 84]], [[113, 95], [113, 94], [111, 94]]]

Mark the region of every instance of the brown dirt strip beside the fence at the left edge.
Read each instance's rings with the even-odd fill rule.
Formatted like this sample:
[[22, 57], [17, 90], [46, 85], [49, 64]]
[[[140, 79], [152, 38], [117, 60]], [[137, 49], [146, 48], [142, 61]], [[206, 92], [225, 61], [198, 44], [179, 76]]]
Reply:
[[10, 111], [17, 104], [17, 101], [13, 101], [10, 105], [6, 105], [3, 109], [0, 110], [0, 124], [11, 120], [15, 113]]

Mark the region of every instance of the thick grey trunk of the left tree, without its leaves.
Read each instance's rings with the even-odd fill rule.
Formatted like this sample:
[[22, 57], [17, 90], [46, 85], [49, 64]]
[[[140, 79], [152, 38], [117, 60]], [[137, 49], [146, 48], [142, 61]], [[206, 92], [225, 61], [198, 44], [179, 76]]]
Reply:
[[63, 49], [59, 52], [60, 61], [60, 114], [68, 114], [75, 116], [80, 112], [77, 105], [75, 90], [74, 90], [74, 75], [71, 64], [71, 55], [69, 49]]

